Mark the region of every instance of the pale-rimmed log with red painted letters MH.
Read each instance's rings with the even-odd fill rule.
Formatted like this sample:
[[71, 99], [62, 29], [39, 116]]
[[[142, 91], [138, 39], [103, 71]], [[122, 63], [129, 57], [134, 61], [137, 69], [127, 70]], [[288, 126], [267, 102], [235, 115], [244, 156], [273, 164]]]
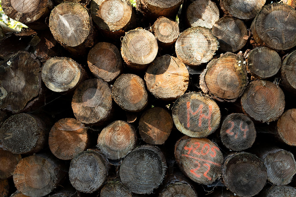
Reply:
[[179, 97], [172, 109], [176, 128], [190, 137], [206, 137], [220, 124], [221, 113], [216, 102], [198, 92]]

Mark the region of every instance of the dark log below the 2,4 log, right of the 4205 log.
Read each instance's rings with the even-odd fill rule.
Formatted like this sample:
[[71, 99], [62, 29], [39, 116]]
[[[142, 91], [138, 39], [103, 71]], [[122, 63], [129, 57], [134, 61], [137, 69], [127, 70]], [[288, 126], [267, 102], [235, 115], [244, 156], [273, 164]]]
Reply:
[[241, 152], [226, 157], [223, 164], [223, 181], [237, 196], [258, 194], [267, 179], [266, 167], [254, 154]]

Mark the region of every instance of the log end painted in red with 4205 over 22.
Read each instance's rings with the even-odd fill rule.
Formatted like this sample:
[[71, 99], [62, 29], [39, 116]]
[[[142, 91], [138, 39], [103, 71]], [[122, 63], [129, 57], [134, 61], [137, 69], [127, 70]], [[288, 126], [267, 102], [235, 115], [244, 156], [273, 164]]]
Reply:
[[221, 177], [223, 154], [209, 139], [183, 136], [176, 142], [175, 158], [182, 172], [196, 183], [210, 184]]

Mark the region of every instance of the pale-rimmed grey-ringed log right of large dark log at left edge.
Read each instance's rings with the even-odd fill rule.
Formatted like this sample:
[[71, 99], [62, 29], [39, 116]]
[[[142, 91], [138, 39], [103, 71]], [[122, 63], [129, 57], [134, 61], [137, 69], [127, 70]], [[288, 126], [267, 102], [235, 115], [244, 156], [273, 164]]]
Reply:
[[74, 60], [54, 57], [42, 66], [42, 81], [54, 92], [73, 90], [85, 78], [85, 70]]

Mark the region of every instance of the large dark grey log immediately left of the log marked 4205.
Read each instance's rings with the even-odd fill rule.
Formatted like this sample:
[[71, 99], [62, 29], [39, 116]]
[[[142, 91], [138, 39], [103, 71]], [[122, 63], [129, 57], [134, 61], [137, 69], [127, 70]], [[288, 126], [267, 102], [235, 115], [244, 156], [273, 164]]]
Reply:
[[144, 145], [133, 149], [123, 159], [120, 180], [133, 193], [149, 194], [162, 183], [166, 168], [160, 149]]

